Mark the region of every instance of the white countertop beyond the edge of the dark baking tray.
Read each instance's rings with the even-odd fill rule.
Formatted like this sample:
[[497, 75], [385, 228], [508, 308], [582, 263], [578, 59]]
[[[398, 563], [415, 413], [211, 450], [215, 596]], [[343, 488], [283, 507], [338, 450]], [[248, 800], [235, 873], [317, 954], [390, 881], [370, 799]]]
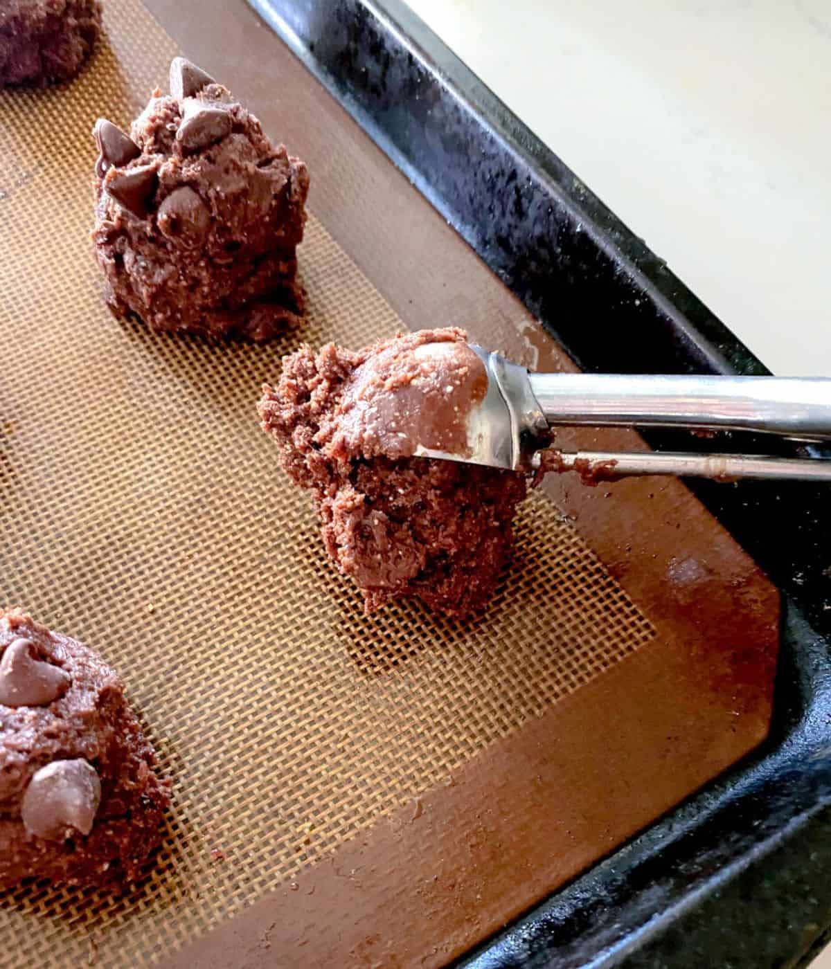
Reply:
[[409, 0], [775, 373], [831, 376], [831, 0]]

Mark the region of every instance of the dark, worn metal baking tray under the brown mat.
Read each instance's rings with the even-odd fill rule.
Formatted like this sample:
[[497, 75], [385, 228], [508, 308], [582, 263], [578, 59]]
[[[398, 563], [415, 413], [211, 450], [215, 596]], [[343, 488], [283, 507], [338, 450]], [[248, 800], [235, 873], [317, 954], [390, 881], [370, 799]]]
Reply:
[[[399, 0], [249, 2], [584, 369], [767, 372]], [[799, 965], [827, 934], [827, 488], [690, 485], [785, 594], [772, 736], [468, 965]]]

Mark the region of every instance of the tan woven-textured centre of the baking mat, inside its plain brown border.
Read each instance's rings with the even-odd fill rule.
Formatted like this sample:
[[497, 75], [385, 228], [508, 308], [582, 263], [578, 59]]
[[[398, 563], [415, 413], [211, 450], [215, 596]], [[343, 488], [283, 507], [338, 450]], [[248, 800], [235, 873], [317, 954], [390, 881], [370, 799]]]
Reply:
[[132, 893], [2, 896], [4, 966], [158, 959], [654, 636], [539, 496], [483, 619], [363, 614], [254, 404], [301, 340], [357, 347], [400, 322], [314, 217], [307, 319], [271, 346], [112, 320], [89, 133], [126, 126], [177, 51], [137, 0], [105, 22], [73, 84], [0, 94], [0, 603], [121, 672], [175, 800]]

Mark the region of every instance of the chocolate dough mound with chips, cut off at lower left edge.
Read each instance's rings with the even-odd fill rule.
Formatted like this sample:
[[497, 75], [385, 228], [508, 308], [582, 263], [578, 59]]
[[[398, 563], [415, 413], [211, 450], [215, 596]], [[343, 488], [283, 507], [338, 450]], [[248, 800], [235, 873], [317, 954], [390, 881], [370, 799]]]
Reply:
[[112, 670], [24, 613], [0, 611], [0, 888], [137, 880], [169, 782]]

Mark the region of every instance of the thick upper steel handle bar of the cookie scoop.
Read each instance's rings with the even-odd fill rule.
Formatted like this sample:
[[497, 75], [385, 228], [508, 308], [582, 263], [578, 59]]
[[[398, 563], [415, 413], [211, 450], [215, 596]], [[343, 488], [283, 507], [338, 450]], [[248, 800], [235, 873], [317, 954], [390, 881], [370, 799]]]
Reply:
[[529, 373], [552, 424], [749, 430], [831, 438], [831, 378]]

